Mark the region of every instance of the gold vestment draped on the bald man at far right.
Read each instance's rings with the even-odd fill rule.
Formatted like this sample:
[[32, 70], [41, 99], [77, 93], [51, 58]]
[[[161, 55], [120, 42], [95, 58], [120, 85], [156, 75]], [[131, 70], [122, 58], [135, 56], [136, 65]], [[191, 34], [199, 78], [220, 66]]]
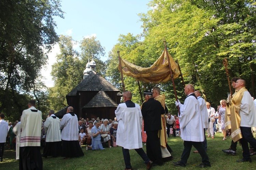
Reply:
[[240, 130], [240, 106], [241, 101], [244, 95], [244, 92], [247, 91], [245, 87], [242, 87], [239, 91], [236, 92], [236, 95], [230, 99], [231, 105], [230, 109], [230, 121], [231, 121], [231, 138], [234, 142], [238, 141], [242, 138], [241, 130]]

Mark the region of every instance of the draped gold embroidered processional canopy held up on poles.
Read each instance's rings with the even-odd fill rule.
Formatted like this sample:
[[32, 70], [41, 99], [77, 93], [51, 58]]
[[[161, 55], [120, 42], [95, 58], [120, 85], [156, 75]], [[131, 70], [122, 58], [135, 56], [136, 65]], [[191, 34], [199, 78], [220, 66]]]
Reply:
[[[168, 56], [173, 72], [173, 79], [177, 79], [180, 75], [179, 68], [169, 52]], [[122, 58], [120, 58], [120, 63], [123, 74], [134, 77], [138, 81], [143, 81], [146, 83], [159, 83], [167, 82], [171, 79], [171, 72], [167, 60], [166, 50], [163, 50], [163, 53], [157, 59], [157, 61], [152, 66], [147, 68], [136, 66]], [[118, 66], [118, 70], [120, 71], [120, 66]]]

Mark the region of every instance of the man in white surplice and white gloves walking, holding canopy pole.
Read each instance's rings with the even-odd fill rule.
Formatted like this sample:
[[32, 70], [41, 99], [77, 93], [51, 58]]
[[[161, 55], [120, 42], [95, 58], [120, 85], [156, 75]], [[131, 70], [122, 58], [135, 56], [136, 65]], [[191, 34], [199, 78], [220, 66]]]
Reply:
[[[195, 87], [192, 84], [185, 86], [185, 95], [187, 96], [184, 104], [178, 100], [175, 105], [180, 107], [180, 129], [181, 138], [184, 140], [184, 150], [179, 162], [173, 162], [176, 166], [186, 166], [192, 146], [194, 146], [202, 157], [202, 164], [199, 167], [210, 167], [210, 161], [203, 148], [205, 124], [200, 111], [200, 104], [194, 93]], [[195, 124], [197, 126], [195, 126]]]

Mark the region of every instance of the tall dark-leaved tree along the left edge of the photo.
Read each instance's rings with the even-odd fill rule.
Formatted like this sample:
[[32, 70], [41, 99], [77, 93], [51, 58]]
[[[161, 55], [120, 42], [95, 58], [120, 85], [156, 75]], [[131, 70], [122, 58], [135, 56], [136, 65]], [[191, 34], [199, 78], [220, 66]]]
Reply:
[[[0, 1], [0, 111], [20, 107], [20, 93], [30, 92], [58, 41], [54, 16], [63, 17], [57, 0]], [[20, 95], [19, 95], [20, 94]], [[26, 95], [25, 95], [26, 96]], [[26, 98], [27, 99], [27, 98]], [[10, 103], [13, 102], [13, 103]], [[27, 102], [25, 102], [27, 103]]]

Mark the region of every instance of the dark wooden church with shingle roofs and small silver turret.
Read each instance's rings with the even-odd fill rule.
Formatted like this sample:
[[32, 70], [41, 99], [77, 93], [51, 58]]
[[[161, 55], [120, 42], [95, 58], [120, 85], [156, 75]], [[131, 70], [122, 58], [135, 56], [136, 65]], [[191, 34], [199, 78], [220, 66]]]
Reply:
[[[96, 72], [96, 63], [92, 58], [86, 64], [84, 79], [66, 95], [66, 99], [77, 117], [114, 119], [115, 110], [123, 96], [119, 91]], [[67, 107], [55, 115], [62, 118], [66, 112]]]

